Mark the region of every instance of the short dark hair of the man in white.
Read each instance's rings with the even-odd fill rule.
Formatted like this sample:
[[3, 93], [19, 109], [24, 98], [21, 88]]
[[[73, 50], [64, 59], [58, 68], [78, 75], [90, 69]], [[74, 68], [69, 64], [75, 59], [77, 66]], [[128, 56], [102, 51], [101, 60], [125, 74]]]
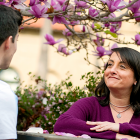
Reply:
[[18, 28], [22, 23], [22, 16], [19, 11], [0, 5], [0, 46], [9, 37], [12, 36], [14, 43]]

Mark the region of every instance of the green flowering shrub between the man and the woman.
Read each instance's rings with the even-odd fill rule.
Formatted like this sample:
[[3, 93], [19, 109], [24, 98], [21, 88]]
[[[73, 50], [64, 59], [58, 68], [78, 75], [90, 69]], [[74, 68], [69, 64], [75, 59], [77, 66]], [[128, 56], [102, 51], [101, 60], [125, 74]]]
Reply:
[[[29, 73], [31, 76], [31, 72]], [[16, 95], [19, 98], [18, 124], [20, 131], [27, 130], [29, 126], [41, 126], [44, 130], [53, 132], [53, 126], [57, 118], [67, 111], [70, 106], [80, 98], [94, 95], [95, 87], [101, 78], [102, 73], [89, 72], [82, 75], [81, 80], [86, 81], [84, 88], [74, 87], [70, 76], [60, 84], [52, 86], [41, 77], [32, 76], [36, 86], [29, 85], [17, 88]], [[42, 89], [38, 89], [40, 84]]]

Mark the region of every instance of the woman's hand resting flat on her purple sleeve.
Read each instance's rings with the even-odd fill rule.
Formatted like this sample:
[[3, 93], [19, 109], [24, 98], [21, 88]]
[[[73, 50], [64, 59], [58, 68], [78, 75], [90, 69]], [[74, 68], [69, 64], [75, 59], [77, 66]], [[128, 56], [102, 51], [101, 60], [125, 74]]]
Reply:
[[112, 122], [91, 122], [87, 121], [86, 124], [88, 125], [96, 125], [95, 127], [90, 128], [90, 130], [95, 130], [97, 132], [107, 131], [111, 130], [114, 132], [119, 132], [120, 125], [118, 123], [112, 123]]

